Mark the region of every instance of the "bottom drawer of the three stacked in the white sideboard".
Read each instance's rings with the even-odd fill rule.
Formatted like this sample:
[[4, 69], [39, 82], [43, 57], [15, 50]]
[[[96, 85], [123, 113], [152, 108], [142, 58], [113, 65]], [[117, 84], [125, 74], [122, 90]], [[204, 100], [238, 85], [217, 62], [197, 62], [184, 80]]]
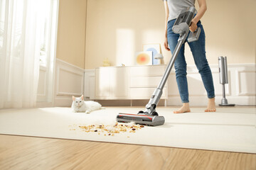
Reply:
[[[151, 98], [155, 89], [156, 88], [131, 88], [130, 95], [132, 96], [132, 99], [149, 99]], [[167, 98], [168, 98], [167, 88], [165, 87], [163, 89], [163, 94], [161, 96], [161, 99], [167, 99]]]

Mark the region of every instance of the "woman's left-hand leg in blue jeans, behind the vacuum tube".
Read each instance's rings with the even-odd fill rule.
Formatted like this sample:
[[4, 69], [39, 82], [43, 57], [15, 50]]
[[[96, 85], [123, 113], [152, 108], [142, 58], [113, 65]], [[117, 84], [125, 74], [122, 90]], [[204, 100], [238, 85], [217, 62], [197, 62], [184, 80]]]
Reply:
[[[169, 21], [168, 30], [167, 30], [167, 38], [169, 48], [171, 53], [174, 53], [174, 49], [177, 45], [179, 35], [172, 31], [172, 26], [174, 25], [175, 20]], [[176, 82], [178, 85], [178, 91], [181, 96], [181, 102], [183, 106], [178, 110], [174, 111], [174, 113], [184, 113], [190, 112], [190, 108], [188, 105], [188, 82], [186, 78], [186, 60], [184, 56], [184, 45], [181, 46], [181, 50], [176, 57], [174, 62], [175, 72], [176, 72]]]

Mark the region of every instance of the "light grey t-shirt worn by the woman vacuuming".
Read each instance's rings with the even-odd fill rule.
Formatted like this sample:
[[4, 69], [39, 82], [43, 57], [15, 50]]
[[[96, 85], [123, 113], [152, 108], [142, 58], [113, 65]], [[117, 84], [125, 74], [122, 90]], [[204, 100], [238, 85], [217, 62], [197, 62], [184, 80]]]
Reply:
[[168, 21], [178, 18], [183, 9], [195, 6], [195, 0], [164, 0], [167, 1], [169, 8]]

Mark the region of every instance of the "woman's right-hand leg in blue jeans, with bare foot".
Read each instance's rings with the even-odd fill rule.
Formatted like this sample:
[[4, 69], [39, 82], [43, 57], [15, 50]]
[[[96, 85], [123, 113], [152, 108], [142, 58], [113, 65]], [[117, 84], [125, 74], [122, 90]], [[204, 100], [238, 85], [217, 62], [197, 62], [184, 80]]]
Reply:
[[196, 67], [201, 74], [203, 85], [207, 91], [208, 108], [206, 111], [216, 111], [213, 76], [206, 59], [206, 35], [204, 33], [203, 26], [201, 25], [201, 21], [198, 22], [198, 27], [201, 28], [201, 34], [198, 40], [194, 42], [188, 42], [188, 45], [191, 48]]

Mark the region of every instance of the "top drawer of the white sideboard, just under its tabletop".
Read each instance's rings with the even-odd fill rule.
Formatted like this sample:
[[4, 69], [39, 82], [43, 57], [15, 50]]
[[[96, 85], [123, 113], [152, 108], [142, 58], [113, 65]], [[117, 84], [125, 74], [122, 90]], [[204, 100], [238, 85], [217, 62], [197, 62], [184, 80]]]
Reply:
[[162, 76], [164, 74], [165, 68], [165, 65], [132, 67], [132, 69], [130, 69], [130, 74], [132, 77]]

